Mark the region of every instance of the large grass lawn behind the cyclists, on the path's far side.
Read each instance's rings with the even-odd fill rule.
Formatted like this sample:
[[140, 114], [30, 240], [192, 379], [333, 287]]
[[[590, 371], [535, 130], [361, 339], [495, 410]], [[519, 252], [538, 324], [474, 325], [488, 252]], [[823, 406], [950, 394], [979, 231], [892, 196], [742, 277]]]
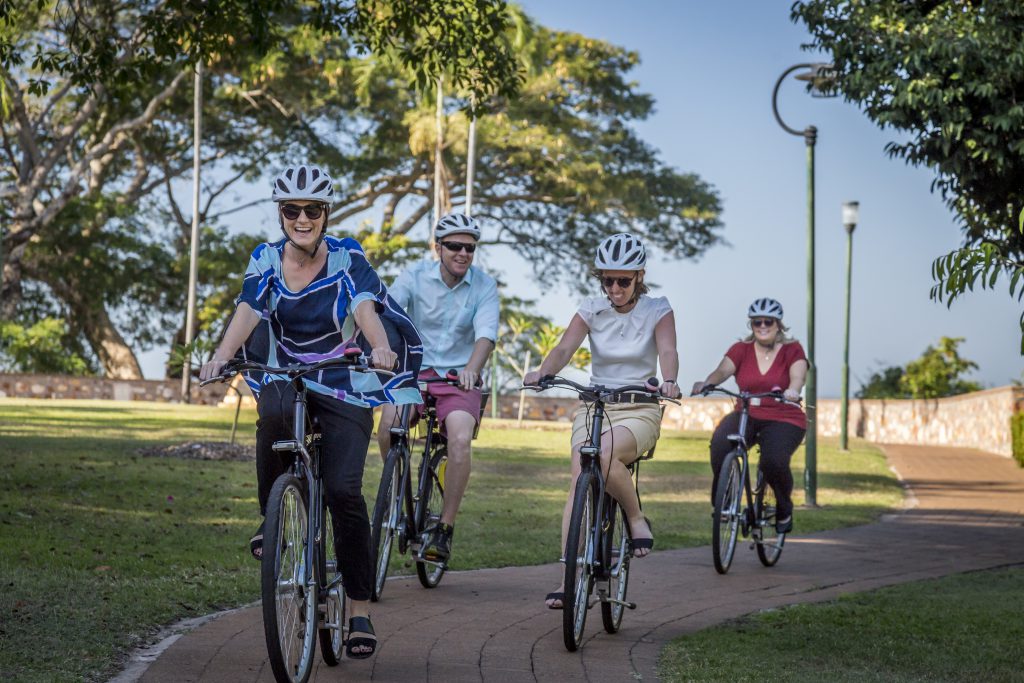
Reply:
[[[159, 627], [258, 598], [258, 564], [248, 551], [258, 524], [253, 463], [137, 453], [226, 441], [232, 416], [205, 407], [0, 399], [0, 680], [106, 680]], [[243, 412], [245, 442], [254, 440], [254, 412]], [[481, 431], [453, 568], [558, 558], [567, 444], [564, 429]], [[642, 465], [657, 549], [710, 543], [707, 446], [707, 434], [667, 433]], [[794, 459], [798, 479], [802, 453]], [[901, 500], [868, 444], [841, 455], [825, 439], [818, 463], [821, 507], [798, 510], [798, 533], [868, 522]], [[379, 473], [373, 453], [368, 499]], [[411, 569], [396, 559], [395, 570]]]

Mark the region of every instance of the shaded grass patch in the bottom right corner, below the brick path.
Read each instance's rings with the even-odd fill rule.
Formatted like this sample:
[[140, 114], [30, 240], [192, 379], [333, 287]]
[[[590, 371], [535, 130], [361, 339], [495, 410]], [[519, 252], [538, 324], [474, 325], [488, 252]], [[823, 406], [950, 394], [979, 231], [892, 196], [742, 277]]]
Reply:
[[675, 640], [663, 681], [1024, 681], [1024, 568], [794, 605]]

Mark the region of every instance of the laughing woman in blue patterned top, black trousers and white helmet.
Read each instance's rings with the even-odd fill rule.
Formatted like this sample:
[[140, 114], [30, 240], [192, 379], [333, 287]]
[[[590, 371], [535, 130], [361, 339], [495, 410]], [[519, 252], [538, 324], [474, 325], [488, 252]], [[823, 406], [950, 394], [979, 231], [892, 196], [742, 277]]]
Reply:
[[[324, 483], [337, 539], [338, 565], [351, 600], [348, 655], [373, 654], [377, 640], [369, 620], [373, 580], [370, 520], [362, 499], [362, 468], [373, 430], [372, 409], [418, 403], [416, 376], [423, 346], [406, 312], [387, 293], [351, 239], [326, 234], [334, 183], [315, 166], [286, 169], [273, 184], [285, 239], [253, 251], [234, 315], [202, 379], [220, 373], [245, 346], [247, 357], [269, 366], [316, 362], [357, 343], [375, 368], [394, 370], [382, 381], [373, 373], [331, 368], [304, 379], [310, 416], [324, 432]], [[292, 435], [294, 391], [283, 376], [246, 378], [257, 396], [256, 475], [260, 513], [288, 463], [272, 450]], [[262, 557], [263, 525], [250, 542]]]

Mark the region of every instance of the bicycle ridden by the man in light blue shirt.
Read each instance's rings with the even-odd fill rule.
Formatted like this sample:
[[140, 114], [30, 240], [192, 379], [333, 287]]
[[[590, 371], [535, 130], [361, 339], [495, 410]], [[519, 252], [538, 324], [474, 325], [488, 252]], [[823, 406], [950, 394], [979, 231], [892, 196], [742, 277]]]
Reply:
[[[445, 383], [458, 386], [459, 376], [449, 371], [444, 377], [419, 380], [421, 384]], [[483, 393], [483, 400], [486, 400]], [[423, 392], [425, 420], [423, 452], [416, 493], [412, 483], [410, 431], [415, 405], [403, 405], [397, 425], [390, 428], [391, 447], [384, 458], [377, 501], [371, 518], [370, 547], [374, 551], [375, 578], [370, 599], [377, 602], [384, 593], [384, 582], [391, 560], [391, 549], [398, 542], [398, 553], [412, 551], [416, 575], [424, 588], [436, 588], [447, 569], [446, 562], [428, 560], [421, 549], [430, 529], [440, 520], [444, 506], [444, 470], [447, 464], [447, 438], [440, 432], [434, 396]], [[481, 403], [482, 412], [482, 403]]]

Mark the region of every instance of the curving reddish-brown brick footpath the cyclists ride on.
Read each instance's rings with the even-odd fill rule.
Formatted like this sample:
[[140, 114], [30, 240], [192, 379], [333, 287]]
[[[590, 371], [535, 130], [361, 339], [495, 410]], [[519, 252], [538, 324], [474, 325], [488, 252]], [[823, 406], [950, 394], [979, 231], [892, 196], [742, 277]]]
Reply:
[[[317, 665], [315, 681], [654, 681], [671, 639], [765, 608], [943, 574], [1024, 565], [1024, 470], [980, 451], [885, 446], [907, 486], [905, 512], [874, 524], [796, 536], [778, 565], [762, 567], [740, 543], [719, 575], [710, 548], [652, 553], [633, 564], [622, 630], [591, 610], [580, 651], [562, 645], [561, 612], [543, 596], [557, 565], [451, 573], [432, 591], [416, 578], [388, 583], [374, 609], [375, 657]], [[798, 511], [799, 529], [800, 516]], [[316, 656], [319, 660], [319, 654]], [[137, 680], [134, 675], [120, 680]], [[256, 607], [180, 637], [142, 681], [272, 681]]]

